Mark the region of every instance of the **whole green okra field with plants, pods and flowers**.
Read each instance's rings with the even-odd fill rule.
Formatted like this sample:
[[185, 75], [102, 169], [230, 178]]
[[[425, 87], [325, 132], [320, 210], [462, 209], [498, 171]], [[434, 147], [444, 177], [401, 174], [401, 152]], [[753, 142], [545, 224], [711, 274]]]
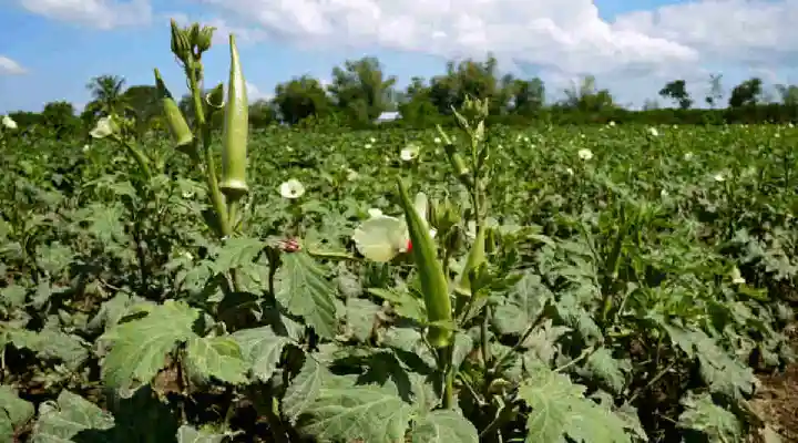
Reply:
[[244, 140], [238, 63], [224, 132], [0, 127], [1, 441], [798, 441], [798, 128]]

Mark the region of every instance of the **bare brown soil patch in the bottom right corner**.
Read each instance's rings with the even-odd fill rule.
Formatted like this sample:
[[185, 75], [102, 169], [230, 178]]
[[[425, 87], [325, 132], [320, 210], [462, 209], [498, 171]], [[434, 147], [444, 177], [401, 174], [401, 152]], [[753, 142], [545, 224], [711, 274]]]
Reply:
[[[798, 350], [798, 333], [792, 344]], [[784, 372], [760, 374], [751, 406], [776, 431], [784, 443], [798, 443], [798, 362]]]

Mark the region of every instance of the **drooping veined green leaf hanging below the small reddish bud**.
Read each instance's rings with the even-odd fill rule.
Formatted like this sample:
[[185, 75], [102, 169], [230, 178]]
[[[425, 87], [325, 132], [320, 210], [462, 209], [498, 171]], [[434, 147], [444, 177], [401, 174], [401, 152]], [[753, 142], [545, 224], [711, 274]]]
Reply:
[[325, 338], [336, 336], [335, 286], [305, 253], [283, 255], [276, 276], [277, 301], [290, 313], [305, 318]]

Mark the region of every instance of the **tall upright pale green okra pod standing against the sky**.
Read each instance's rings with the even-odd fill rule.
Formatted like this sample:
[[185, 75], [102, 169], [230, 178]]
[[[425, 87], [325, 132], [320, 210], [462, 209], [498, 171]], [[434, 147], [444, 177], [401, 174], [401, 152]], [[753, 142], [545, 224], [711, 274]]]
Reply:
[[219, 188], [235, 202], [249, 190], [246, 184], [249, 106], [235, 35], [229, 37], [231, 73], [227, 83], [224, 134], [222, 138], [222, 183]]

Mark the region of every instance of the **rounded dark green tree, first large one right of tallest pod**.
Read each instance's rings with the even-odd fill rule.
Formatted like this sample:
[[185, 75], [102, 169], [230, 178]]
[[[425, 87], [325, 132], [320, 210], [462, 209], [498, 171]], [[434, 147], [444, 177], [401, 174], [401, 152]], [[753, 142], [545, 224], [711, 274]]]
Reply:
[[332, 107], [321, 83], [309, 75], [278, 84], [274, 103], [280, 120], [288, 124], [297, 124], [310, 116], [327, 116]]

